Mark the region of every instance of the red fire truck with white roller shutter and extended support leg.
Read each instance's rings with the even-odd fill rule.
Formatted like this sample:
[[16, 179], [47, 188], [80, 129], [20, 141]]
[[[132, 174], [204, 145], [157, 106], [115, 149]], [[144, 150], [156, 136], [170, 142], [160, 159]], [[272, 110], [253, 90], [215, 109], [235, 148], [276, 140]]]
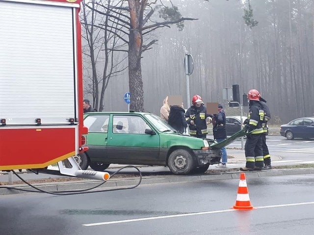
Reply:
[[[72, 156], [86, 151], [83, 126], [81, 0], [0, 0], [0, 170], [58, 163], [82, 171]], [[68, 159], [73, 168], [63, 168]]]

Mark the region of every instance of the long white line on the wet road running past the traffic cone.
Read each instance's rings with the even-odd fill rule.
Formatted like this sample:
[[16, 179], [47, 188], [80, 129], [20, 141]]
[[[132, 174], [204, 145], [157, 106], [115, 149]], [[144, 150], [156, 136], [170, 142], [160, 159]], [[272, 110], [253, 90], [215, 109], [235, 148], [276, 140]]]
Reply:
[[[314, 204], [314, 202], [301, 202], [301, 203], [262, 206], [262, 207], [254, 207], [254, 209], [291, 207], [291, 206], [301, 206], [301, 205], [310, 205], [310, 204]], [[185, 213], [185, 214], [163, 215], [163, 216], [156, 216], [156, 217], [146, 217], [146, 218], [125, 219], [125, 220], [116, 220], [116, 221], [108, 221], [108, 222], [100, 222], [100, 223], [92, 223], [92, 224], [82, 224], [82, 226], [90, 227], [90, 226], [107, 225], [107, 224], [120, 224], [120, 223], [129, 223], [129, 222], [146, 221], [146, 220], [154, 220], [154, 219], [176, 218], [176, 217], [191, 216], [191, 215], [223, 213], [223, 212], [230, 212], [230, 211], [237, 211], [237, 210], [228, 209], [228, 210], [219, 210], [219, 211], [204, 211], [204, 212], [193, 212], [193, 213]]]

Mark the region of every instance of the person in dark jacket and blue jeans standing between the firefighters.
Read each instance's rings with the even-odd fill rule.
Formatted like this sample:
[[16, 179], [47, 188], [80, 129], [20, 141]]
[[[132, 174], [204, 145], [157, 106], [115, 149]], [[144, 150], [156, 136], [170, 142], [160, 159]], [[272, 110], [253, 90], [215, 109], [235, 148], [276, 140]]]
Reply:
[[[226, 114], [223, 110], [222, 105], [218, 105], [218, 113], [213, 115], [212, 118], [212, 132], [214, 139], [219, 143], [226, 140]], [[228, 155], [225, 147], [220, 149], [221, 151], [221, 164], [216, 165], [216, 167], [227, 167]]]

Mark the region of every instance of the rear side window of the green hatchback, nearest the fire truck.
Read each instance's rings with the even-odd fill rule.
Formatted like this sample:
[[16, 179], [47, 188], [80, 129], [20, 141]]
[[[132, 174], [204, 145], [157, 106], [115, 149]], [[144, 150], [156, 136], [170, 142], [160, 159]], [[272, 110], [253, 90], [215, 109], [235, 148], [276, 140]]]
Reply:
[[109, 115], [91, 115], [84, 119], [84, 126], [88, 128], [88, 132], [107, 133]]

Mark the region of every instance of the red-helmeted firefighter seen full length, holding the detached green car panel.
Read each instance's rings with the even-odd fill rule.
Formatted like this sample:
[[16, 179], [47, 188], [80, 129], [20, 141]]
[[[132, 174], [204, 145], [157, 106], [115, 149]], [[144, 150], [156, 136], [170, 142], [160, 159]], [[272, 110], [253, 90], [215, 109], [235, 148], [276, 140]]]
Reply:
[[262, 121], [264, 118], [264, 111], [260, 103], [260, 93], [253, 89], [247, 94], [249, 99], [249, 115], [246, 121], [245, 130], [247, 138], [245, 142], [245, 158], [246, 165], [241, 167], [242, 171], [262, 170], [263, 150], [262, 150]]

